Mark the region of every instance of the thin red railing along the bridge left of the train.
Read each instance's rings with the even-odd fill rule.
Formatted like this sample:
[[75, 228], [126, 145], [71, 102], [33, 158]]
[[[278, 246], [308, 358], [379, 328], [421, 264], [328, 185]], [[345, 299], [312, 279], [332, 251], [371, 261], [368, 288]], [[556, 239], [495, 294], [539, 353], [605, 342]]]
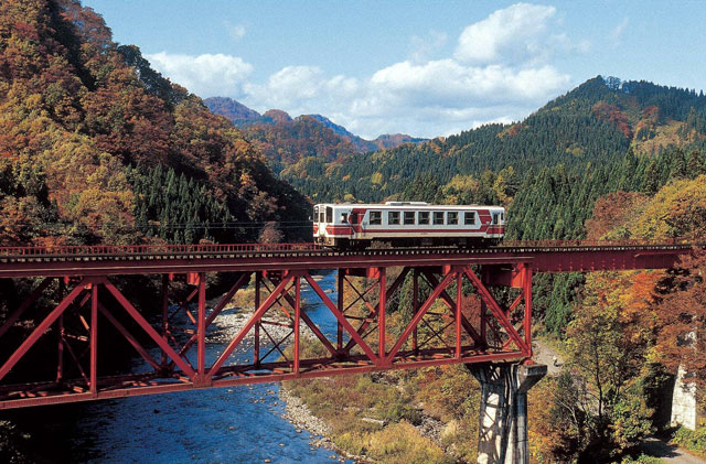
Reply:
[[139, 255], [190, 255], [190, 253], [238, 253], [268, 251], [313, 251], [314, 244], [200, 244], [200, 245], [79, 245], [56, 247], [0, 247], [1, 256], [50, 257], [50, 256], [139, 256]]

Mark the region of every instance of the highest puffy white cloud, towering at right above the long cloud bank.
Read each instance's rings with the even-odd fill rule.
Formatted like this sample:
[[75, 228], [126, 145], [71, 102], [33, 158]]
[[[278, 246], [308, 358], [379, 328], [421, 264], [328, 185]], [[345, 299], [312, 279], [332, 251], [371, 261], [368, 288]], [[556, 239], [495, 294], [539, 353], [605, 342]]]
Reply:
[[467, 64], [546, 62], [552, 35], [549, 20], [556, 8], [516, 3], [469, 25], [459, 36], [454, 57]]

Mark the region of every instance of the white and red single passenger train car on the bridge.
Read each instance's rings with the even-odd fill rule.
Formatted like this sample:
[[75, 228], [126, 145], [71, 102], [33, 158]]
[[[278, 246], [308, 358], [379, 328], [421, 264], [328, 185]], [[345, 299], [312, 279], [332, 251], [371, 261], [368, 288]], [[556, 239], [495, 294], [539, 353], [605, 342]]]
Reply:
[[313, 207], [313, 237], [320, 245], [346, 249], [373, 242], [392, 246], [482, 247], [505, 233], [505, 208], [478, 205], [323, 203]]

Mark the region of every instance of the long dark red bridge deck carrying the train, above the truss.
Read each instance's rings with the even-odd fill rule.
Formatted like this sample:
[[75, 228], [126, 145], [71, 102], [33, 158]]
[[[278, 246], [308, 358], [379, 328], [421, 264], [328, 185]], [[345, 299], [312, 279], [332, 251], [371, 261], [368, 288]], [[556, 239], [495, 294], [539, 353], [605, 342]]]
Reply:
[[339, 251], [313, 244], [0, 248], [0, 278], [164, 272], [492, 265], [532, 260], [536, 272], [664, 268], [695, 245], [635, 241], [521, 241], [500, 247]]

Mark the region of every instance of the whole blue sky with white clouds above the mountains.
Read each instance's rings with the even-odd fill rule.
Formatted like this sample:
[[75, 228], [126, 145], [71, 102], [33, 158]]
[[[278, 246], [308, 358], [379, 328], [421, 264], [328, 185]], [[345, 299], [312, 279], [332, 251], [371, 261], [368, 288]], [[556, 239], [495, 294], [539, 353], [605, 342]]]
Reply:
[[706, 1], [83, 0], [202, 98], [432, 138], [597, 75], [706, 89]]

